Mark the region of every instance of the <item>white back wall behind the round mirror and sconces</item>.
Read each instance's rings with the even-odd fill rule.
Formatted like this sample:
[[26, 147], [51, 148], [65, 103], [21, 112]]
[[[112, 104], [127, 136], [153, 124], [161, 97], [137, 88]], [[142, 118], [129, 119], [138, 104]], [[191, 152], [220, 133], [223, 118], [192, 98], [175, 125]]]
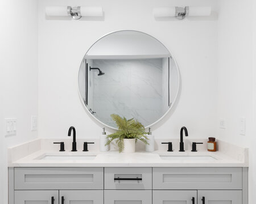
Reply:
[[[46, 20], [46, 6], [102, 6], [103, 21]], [[176, 58], [182, 87], [179, 105], [153, 127], [155, 135], [177, 138], [185, 125], [189, 137], [207, 138], [216, 130], [216, 20], [156, 21], [159, 6], [212, 6], [216, 1], [81, 1], [39, 0], [39, 137], [66, 138], [69, 126], [80, 138], [98, 137], [101, 125], [85, 112], [77, 93], [77, 74], [84, 54], [106, 33], [122, 29], [146, 32]]]

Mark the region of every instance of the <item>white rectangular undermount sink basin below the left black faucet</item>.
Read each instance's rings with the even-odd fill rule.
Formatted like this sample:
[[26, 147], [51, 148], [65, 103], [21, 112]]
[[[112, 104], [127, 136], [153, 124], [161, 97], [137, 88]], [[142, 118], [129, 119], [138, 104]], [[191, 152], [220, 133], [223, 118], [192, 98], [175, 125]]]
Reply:
[[95, 155], [44, 155], [39, 160], [93, 160]]

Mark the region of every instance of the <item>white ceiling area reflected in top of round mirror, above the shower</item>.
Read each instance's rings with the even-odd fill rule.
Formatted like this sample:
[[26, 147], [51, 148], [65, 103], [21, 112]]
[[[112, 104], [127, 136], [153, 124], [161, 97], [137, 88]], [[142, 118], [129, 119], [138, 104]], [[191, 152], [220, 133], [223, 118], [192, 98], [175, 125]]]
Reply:
[[170, 57], [166, 47], [142, 32], [114, 32], [98, 40], [86, 53], [86, 59], [139, 59]]

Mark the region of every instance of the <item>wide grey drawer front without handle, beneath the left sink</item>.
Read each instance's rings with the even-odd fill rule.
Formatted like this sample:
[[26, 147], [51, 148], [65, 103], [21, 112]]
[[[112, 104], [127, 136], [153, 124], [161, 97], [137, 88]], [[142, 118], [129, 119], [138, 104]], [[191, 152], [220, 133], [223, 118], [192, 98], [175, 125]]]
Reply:
[[103, 189], [103, 168], [15, 168], [15, 190]]

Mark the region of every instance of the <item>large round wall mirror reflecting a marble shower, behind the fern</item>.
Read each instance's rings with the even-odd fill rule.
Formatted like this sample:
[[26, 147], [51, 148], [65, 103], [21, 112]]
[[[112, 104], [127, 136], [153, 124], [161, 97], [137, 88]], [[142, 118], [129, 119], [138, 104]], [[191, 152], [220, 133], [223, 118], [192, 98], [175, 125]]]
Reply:
[[167, 48], [138, 31], [118, 31], [96, 41], [79, 70], [79, 92], [96, 120], [116, 129], [111, 114], [145, 127], [161, 120], [175, 102], [179, 70]]

